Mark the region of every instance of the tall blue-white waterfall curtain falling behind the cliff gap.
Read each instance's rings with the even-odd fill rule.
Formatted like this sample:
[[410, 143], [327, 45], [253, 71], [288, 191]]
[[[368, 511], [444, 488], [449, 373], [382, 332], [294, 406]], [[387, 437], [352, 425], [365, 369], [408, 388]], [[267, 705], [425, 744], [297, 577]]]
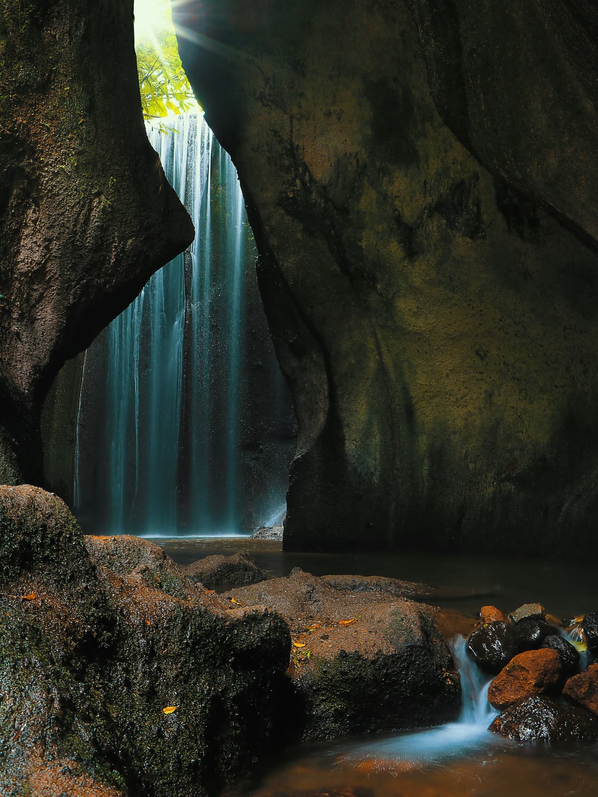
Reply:
[[[253, 386], [257, 379], [265, 395], [282, 395], [287, 405], [288, 398], [265, 320], [263, 335], [256, 332], [255, 318], [246, 318], [245, 294], [255, 284], [254, 243], [234, 165], [201, 114], [183, 114], [167, 124], [171, 132], [148, 124], [148, 137], [191, 214], [195, 241], [151, 277], [88, 351], [95, 380], [83, 386], [80, 416], [96, 433], [88, 435], [93, 439], [81, 468], [85, 446], [77, 423], [74, 492], [80, 510], [85, 495], [88, 503], [90, 493], [104, 497], [100, 519], [92, 525], [108, 533], [250, 531], [252, 520], [257, 525], [284, 504], [285, 485], [266, 485], [262, 493], [252, 487], [259, 494], [251, 497], [248, 516], [246, 481], [256, 481], [264, 466], [256, 467], [257, 455], [247, 451], [262, 451], [264, 445], [254, 441], [255, 422], [243, 415], [256, 413], [246, 406], [246, 383], [253, 380]], [[260, 350], [258, 359], [259, 334], [267, 339], [267, 351]], [[250, 379], [249, 371], [258, 375]], [[288, 407], [269, 411], [282, 416]], [[277, 418], [269, 423], [274, 437], [285, 437], [274, 430]], [[289, 450], [289, 434], [286, 438]], [[92, 454], [105, 461], [104, 468], [94, 469]], [[286, 472], [288, 459], [283, 455], [278, 472]], [[80, 484], [85, 473], [91, 489]]]

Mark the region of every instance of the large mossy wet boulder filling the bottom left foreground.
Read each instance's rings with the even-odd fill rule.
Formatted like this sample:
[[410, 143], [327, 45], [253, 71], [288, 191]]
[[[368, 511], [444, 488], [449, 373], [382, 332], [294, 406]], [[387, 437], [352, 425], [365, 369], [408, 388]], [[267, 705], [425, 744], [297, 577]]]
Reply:
[[281, 618], [33, 487], [0, 487], [0, 616], [2, 794], [217, 795], [280, 740]]

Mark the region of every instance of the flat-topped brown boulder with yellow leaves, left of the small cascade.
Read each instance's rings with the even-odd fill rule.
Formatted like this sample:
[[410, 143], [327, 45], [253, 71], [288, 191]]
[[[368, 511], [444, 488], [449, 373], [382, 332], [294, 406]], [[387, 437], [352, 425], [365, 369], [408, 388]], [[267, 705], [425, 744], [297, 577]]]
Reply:
[[435, 609], [376, 591], [344, 591], [299, 569], [225, 592], [276, 611], [293, 639], [289, 676], [303, 740], [438, 724], [458, 714], [458, 673]]

